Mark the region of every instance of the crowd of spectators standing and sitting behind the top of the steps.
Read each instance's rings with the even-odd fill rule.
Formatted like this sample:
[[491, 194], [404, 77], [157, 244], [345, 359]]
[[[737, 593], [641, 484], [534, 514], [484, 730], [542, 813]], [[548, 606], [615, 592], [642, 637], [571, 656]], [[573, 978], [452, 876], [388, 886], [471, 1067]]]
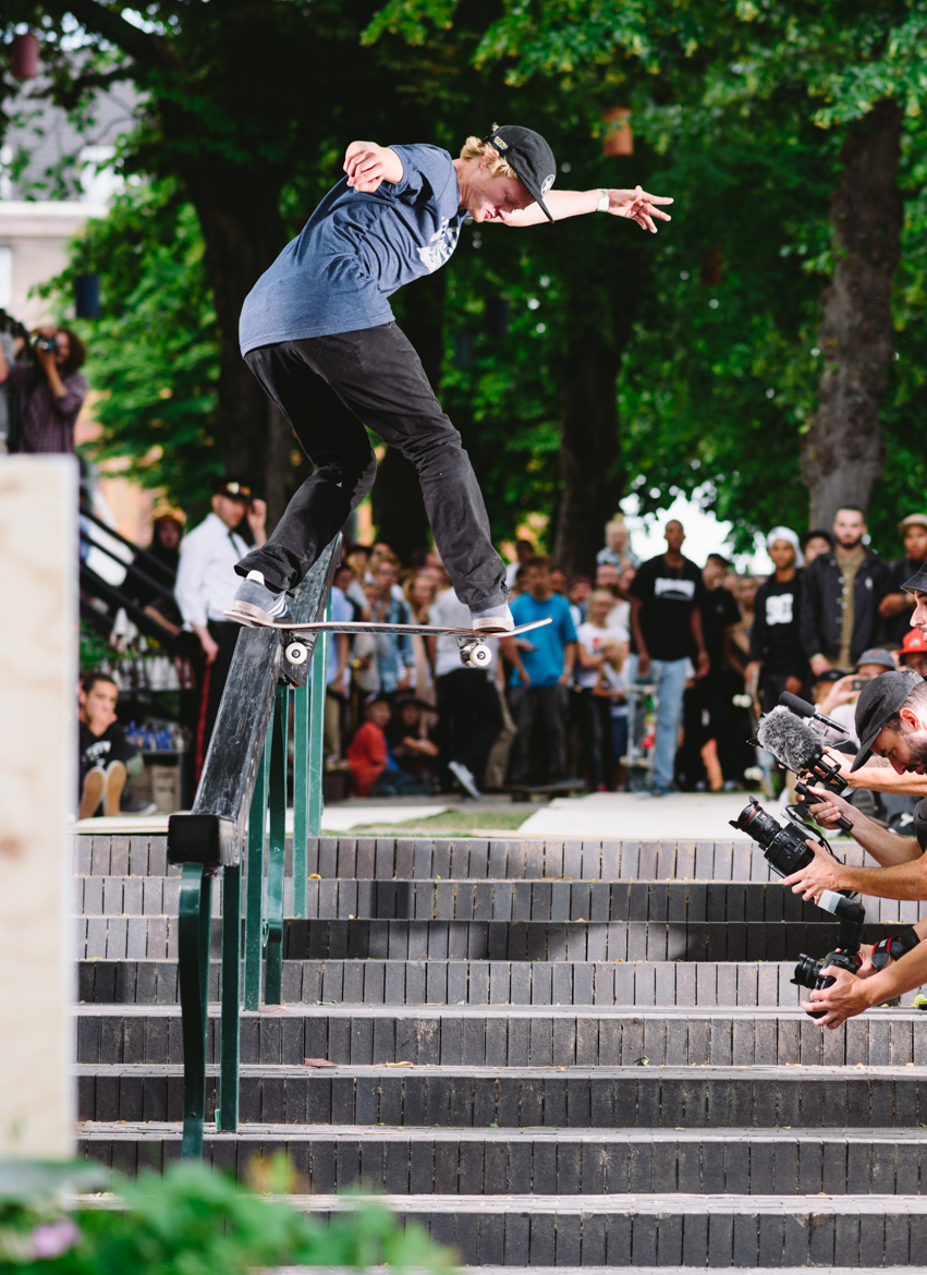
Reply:
[[[193, 635], [199, 654], [198, 766], [205, 757], [237, 623], [224, 615], [236, 562], [264, 537], [265, 510], [236, 478], [215, 484], [212, 510], [182, 537], [158, 520], [150, 546], [177, 567], [173, 597], [148, 599]], [[831, 529], [768, 536], [773, 572], [737, 574], [719, 553], [700, 566], [685, 529], [639, 562], [620, 518], [606, 528], [594, 576], [567, 579], [522, 539], [509, 569], [516, 625], [552, 622], [491, 639], [488, 669], [464, 668], [446, 635], [337, 635], [329, 644], [325, 759], [357, 797], [584, 785], [641, 794], [719, 790], [756, 778], [747, 745], [755, 717], [783, 690], [843, 713], [865, 681], [899, 663], [927, 674], [927, 643], [908, 627], [900, 589], [927, 560], [927, 515], [899, 525], [904, 556], [889, 564], [866, 543], [866, 523], [839, 510]], [[435, 551], [408, 564], [390, 546], [348, 546], [332, 590], [337, 621], [375, 620], [465, 629], [469, 612]], [[629, 714], [632, 686], [655, 687], [649, 737]], [[643, 695], [644, 692], [641, 692]], [[751, 713], [754, 722], [751, 723]], [[636, 732], [636, 734], [635, 734]], [[629, 774], [635, 738], [649, 765]], [[111, 784], [103, 784], [106, 801]], [[96, 788], [93, 788], [96, 792]]]

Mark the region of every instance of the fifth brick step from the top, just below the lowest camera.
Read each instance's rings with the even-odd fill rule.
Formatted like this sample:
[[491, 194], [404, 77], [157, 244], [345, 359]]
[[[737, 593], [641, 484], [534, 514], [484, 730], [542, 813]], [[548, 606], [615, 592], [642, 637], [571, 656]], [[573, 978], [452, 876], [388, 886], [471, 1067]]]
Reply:
[[[218, 1012], [210, 1006], [210, 1060], [218, 1058]], [[176, 1005], [82, 1005], [77, 1029], [83, 1063], [180, 1063], [184, 1057]], [[862, 1067], [923, 1067], [927, 1014], [870, 1010], [839, 1031], [821, 1030], [801, 1010], [771, 1007], [288, 1005], [241, 1016], [241, 1060], [249, 1065], [325, 1058], [346, 1066], [617, 1067], [643, 1057], [650, 1068], [778, 1066], [788, 1068], [787, 1077], [807, 1075], [792, 1070], [799, 1066], [852, 1067], [842, 1072], [849, 1079]]]

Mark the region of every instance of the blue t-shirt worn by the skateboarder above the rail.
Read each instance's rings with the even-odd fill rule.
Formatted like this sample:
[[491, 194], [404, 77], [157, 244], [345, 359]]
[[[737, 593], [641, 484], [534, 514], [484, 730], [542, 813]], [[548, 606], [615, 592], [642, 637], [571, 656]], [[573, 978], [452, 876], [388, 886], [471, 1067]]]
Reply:
[[238, 323], [242, 354], [391, 323], [386, 298], [451, 255], [468, 213], [450, 156], [418, 144], [393, 150], [400, 181], [362, 194], [343, 177], [258, 279]]

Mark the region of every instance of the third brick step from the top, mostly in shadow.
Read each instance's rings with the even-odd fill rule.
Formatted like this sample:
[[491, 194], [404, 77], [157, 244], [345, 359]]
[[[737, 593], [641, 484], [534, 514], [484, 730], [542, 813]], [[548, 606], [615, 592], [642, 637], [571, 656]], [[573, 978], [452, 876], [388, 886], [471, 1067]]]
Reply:
[[[819, 915], [821, 915], [819, 913]], [[82, 960], [175, 960], [176, 917], [77, 917]], [[244, 922], [242, 922], [244, 927]], [[868, 942], [900, 927], [873, 924]], [[244, 936], [244, 928], [242, 928]], [[283, 922], [283, 959], [469, 961], [792, 961], [824, 956], [839, 928], [825, 921], [309, 921]], [[213, 959], [222, 921], [212, 922]]]

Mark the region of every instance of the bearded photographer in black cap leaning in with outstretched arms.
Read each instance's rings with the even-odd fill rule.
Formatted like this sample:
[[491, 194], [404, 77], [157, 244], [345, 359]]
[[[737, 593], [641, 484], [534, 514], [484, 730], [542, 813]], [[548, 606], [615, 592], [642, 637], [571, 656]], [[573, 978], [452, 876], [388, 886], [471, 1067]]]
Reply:
[[[850, 774], [859, 773], [871, 752], [884, 759], [898, 775], [927, 773], [927, 682], [899, 669], [873, 678], [863, 687], [856, 708], [859, 752]], [[831, 759], [839, 757], [828, 750]], [[924, 785], [921, 780], [921, 792]], [[815, 857], [807, 867], [785, 877], [794, 894], [820, 899], [824, 890], [857, 890], [881, 899], [927, 899], [927, 803], [914, 811], [917, 836], [898, 836], [868, 819], [842, 797], [815, 789], [820, 805], [811, 813], [822, 826], [843, 815], [852, 824], [850, 835], [876, 859], [879, 868], [854, 868], [839, 863], [812, 841]]]

